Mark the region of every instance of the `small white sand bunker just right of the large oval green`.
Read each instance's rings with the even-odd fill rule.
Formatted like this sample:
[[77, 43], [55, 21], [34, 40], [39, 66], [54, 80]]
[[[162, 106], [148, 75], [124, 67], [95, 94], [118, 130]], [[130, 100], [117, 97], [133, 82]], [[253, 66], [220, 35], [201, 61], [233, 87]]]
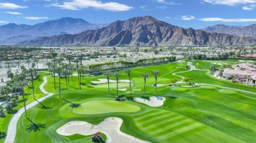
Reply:
[[147, 104], [148, 106], [161, 106], [163, 105], [163, 101], [165, 101], [165, 97], [150, 97], [150, 100], [142, 99], [142, 98], [134, 98], [135, 101], [139, 103]]

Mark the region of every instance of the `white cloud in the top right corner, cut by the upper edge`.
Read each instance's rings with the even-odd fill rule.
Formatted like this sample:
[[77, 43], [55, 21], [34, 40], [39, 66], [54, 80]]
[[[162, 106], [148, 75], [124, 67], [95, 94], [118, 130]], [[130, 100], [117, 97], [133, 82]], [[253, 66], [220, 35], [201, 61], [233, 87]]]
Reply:
[[256, 3], [256, 0], [203, 0], [206, 3], [211, 3], [213, 5], [238, 5], [238, 4], [248, 4]]

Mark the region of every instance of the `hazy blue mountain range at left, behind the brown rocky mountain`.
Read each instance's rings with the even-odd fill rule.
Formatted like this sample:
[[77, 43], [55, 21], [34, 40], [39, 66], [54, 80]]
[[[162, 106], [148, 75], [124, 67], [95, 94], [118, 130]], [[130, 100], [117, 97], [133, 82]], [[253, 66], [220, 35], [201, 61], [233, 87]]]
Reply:
[[37, 37], [81, 33], [88, 29], [100, 29], [104, 26], [106, 24], [90, 24], [81, 18], [60, 18], [35, 25], [1, 25], [0, 44], [16, 44]]

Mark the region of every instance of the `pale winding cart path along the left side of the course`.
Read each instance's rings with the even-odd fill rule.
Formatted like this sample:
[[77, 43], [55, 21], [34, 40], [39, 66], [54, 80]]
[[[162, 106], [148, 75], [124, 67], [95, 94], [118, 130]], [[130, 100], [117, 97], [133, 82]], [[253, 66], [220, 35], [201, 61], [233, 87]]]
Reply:
[[[45, 91], [45, 89], [43, 88], [43, 86], [45, 86], [45, 84], [47, 83], [47, 77], [48, 76], [44, 76], [43, 77], [43, 84], [41, 84], [39, 86], [39, 89], [41, 89], [41, 91], [45, 94], [47, 94], [47, 96], [45, 97], [41, 97], [40, 99], [37, 99], [37, 101], [33, 101], [32, 103], [26, 105], [26, 109], [28, 110], [29, 108], [32, 108], [33, 106], [35, 106], [36, 104], [38, 104], [39, 102], [47, 99], [48, 97], [51, 97], [53, 95], [53, 93], [48, 93], [47, 91]], [[16, 136], [16, 130], [17, 130], [17, 123], [18, 123], [18, 119], [20, 119], [20, 117], [22, 116], [22, 114], [25, 112], [24, 108], [21, 108], [20, 110], [18, 110], [18, 112], [16, 114], [14, 114], [14, 116], [12, 117], [9, 126], [8, 126], [8, 131], [7, 131], [7, 136], [5, 138], [5, 143], [11, 143], [14, 142], [15, 140], [15, 136]]]

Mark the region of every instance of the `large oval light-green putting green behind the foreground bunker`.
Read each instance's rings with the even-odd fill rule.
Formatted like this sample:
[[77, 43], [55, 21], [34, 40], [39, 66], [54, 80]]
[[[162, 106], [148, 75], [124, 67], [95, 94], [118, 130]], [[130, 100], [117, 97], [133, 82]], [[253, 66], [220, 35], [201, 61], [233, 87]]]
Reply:
[[104, 114], [111, 112], [137, 112], [140, 106], [123, 101], [99, 100], [89, 101], [81, 104], [81, 107], [74, 108], [75, 114]]

